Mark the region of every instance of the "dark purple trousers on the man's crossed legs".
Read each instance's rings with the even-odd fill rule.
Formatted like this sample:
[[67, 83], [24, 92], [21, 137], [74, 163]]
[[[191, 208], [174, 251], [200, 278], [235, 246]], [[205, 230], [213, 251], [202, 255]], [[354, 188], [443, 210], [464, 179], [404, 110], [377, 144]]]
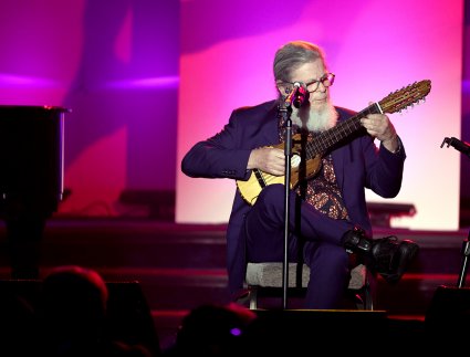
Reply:
[[[265, 187], [246, 217], [249, 262], [280, 262], [284, 258], [284, 186]], [[349, 255], [341, 239], [354, 227], [334, 220], [300, 200], [291, 191], [289, 260], [301, 258], [310, 266], [305, 308], [341, 308], [349, 281]]]

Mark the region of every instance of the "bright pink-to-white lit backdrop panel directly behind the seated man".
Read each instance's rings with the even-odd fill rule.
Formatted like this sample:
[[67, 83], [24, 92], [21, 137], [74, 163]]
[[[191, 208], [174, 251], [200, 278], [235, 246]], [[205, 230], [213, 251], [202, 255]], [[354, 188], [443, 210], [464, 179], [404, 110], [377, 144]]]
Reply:
[[[274, 98], [274, 52], [288, 41], [303, 39], [325, 49], [330, 69], [337, 75], [332, 97], [340, 106], [361, 111], [415, 81], [431, 80], [426, 103], [390, 115], [408, 155], [403, 189], [393, 202], [417, 208], [412, 218], [391, 223], [458, 228], [460, 157], [439, 146], [443, 136], [460, 136], [462, 1], [387, 0], [357, 6], [312, 0], [302, 2], [296, 13], [279, 12], [272, 2], [261, 1], [250, 12], [263, 13], [269, 23], [260, 19], [248, 29], [221, 25], [205, 31], [191, 21], [196, 13], [190, 12], [190, 3], [181, 3], [186, 23], [181, 46], [191, 51], [180, 57], [178, 162], [197, 140], [219, 132], [233, 108]], [[217, 7], [223, 10], [220, 2]], [[217, 23], [246, 23], [242, 11], [232, 3], [227, 7], [217, 12]], [[205, 25], [209, 27], [207, 21]], [[176, 220], [228, 221], [234, 189], [230, 180], [190, 179], [178, 170]]]

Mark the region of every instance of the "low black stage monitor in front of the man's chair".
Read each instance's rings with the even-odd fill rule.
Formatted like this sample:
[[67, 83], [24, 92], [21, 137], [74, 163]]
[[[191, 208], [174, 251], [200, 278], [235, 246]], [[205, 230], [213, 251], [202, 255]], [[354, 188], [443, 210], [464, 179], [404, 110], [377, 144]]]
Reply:
[[376, 350], [374, 343], [388, 336], [385, 311], [271, 309], [257, 315], [246, 332], [246, 344], [263, 356], [302, 356], [305, 350], [352, 356], [364, 354], [364, 348]]

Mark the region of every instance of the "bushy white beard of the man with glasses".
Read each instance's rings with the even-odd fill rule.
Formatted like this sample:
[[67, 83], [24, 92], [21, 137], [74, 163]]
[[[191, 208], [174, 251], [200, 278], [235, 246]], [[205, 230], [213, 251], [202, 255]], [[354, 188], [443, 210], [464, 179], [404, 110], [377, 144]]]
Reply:
[[324, 132], [336, 125], [338, 114], [335, 107], [327, 103], [322, 108], [312, 108], [310, 105], [301, 107], [300, 109], [292, 108], [292, 124], [309, 132]]

